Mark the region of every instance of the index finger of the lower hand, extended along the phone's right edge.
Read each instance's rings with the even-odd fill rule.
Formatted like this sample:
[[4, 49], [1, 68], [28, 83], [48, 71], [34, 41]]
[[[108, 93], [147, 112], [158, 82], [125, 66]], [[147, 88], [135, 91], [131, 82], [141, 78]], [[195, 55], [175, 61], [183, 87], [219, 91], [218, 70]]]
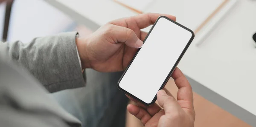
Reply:
[[175, 84], [178, 87], [177, 92], [177, 101], [187, 101], [193, 104], [193, 92], [192, 87], [189, 84], [189, 81], [186, 79], [185, 75], [180, 71], [179, 68], [176, 68], [172, 73], [172, 78], [175, 81]]

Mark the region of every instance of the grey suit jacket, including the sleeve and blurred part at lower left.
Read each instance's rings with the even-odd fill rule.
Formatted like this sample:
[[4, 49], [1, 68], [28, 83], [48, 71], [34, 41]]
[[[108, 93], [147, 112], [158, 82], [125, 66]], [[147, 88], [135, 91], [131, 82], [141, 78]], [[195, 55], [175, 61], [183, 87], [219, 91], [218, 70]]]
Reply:
[[47, 93], [83, 87], [77, 32], [0, 42], [0, 126], [80, 127]]

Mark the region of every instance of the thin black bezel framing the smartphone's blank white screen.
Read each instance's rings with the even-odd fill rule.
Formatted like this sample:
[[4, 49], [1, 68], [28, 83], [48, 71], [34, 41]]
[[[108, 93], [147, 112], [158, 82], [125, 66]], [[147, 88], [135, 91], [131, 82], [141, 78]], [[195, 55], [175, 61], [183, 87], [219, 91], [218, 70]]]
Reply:
[[[177, 23], [171, 19], [169, 19], [168, 17], [166, 16], [160, 16], [157, 18], [156, 22], [153, 24], [153, 26], [151, 27], [150, 31], [148, 32], [148, 35], [145, 37], [144, 39], [144, 43], [145, 41], [147, 40], [148, 36], [150, 35], [151, 31], [154, 29], [154, 26], [157, 24], [158, 20], [160, 18], [165, 18], [169, 21], [171, 21], [172, 23], [175, 23], [176, 25], [182, 27], [183, 29], [186, 29], [187, 31], [191, 32], [191, 38], [189, 39], [189, 42], [186, 44], [185, 48], [183, 49], [183, 51], [181, 52], [179, 58], [177, 59], [177, 61], [175, 62], [175, 65], [172, 67], [171, 71], [169, 72], [169, 74], [167, 75], [165, 81], [163, 82], [163, 84], [161, 85], [160, 89], [163, 89], [167, 83], [167, 81], [169, 81], [169, 78], [171, 78], [171, 75], [172, 75], [172, 72], [175, 70], [175, 68], [177, 67], [178, 63], [180, 62], [180, 59], [183, 57], [184, 53], [186, 52], [186, 50], [188, 49], [190, 43], [192, 42], [192, 40], [195, 38], [195, 34], [194, 32], [191, 30], [191, 29], [188, 29], [187, 27], [181, 25], [180, 23]], [[134, 58], [137, 56], [138, 52], [140, 51], [140, 49], [138, 49], [137, 53], [134, 55]], [[129, 95], [130, 97], [136, 99], [137, 101], [139, 101], [140, 103], [146, 105], [146, 106], [149, 106], [151, 104], [154, 104], [154, 102], [157, 100], [157, 95], [155, 95], [154, 99], [150, 102], [150, 103], [145, 103], [144, 101], [140, 100], [139, 98], [137, 98], [136, 96], [132, 95], [131, 93], [127, 92], [126, 90], [122, 89], [120, 86], [119, 86], [119, 83], [120, 81], [122, 80], [122, 78], [124, 77], [125, 73], [127, 72], [127, 70], [129, 69], [129, 67], [131, 66], [132, 62], [134, 61], [134, 58], [131, 60], [131, 62], [129, 63], [129, 65], [127, 66], [127, 68], [125, 69], [124, 73], [122, 74], [121, 78], [119, 79], [119, 81], [117, 82], [117, 88], [119, 90], [121, 90], [122, 92], [125, 92], [125, 94]], [[160, 90], [159, 89], [159, 90]]]

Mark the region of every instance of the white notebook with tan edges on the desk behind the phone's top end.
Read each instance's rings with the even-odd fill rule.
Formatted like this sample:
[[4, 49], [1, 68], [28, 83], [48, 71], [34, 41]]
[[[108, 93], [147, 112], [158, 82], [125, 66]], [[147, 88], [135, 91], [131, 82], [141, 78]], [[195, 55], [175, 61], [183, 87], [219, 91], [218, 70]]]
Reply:
[[[204, 38], [216, 27], [237, 0], [114, 0], [139, 13], [163, 13], [177, 17], [177, 22], [192, 29], [199, 38]], [[145, 29], [146, 31], [149, 28]], [[200, 40], [200, 39], [199, 39]], [[201, 42], [198, 42], [201, 43]]]

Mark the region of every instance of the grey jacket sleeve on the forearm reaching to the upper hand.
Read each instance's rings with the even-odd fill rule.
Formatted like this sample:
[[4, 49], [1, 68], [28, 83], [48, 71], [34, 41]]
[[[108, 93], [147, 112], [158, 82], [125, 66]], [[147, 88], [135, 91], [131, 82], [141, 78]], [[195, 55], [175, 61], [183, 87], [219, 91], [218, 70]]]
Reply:
[[0, 42], [0, 55], [25, 67], [49, 92], [83, 87], [77, 34], [61, 33], [29, 43]]

